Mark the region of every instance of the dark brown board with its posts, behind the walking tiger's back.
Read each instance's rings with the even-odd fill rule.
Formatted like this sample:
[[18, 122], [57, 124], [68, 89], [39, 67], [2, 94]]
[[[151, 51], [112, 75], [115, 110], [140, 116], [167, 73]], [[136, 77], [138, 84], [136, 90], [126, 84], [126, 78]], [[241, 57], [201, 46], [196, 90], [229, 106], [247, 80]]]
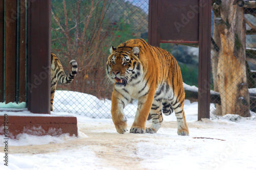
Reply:
[[[198, 8], [194, 8], [196, 5]], [[162, 8], [163, 6], [166, 10]], [[185, 17], [189, 19], [189, 22], [184, 21], [186, 24], [181, 22], [184, 17], [182, 12], [185, 12]], [[192, 14], [190, 17], [189, 12]], [[199, 45], [198, 120], [209, 118], [211, 1], [150, 0], [148, 16], [148, 42], [151, 45], [160, 46], [160, 43]]]

